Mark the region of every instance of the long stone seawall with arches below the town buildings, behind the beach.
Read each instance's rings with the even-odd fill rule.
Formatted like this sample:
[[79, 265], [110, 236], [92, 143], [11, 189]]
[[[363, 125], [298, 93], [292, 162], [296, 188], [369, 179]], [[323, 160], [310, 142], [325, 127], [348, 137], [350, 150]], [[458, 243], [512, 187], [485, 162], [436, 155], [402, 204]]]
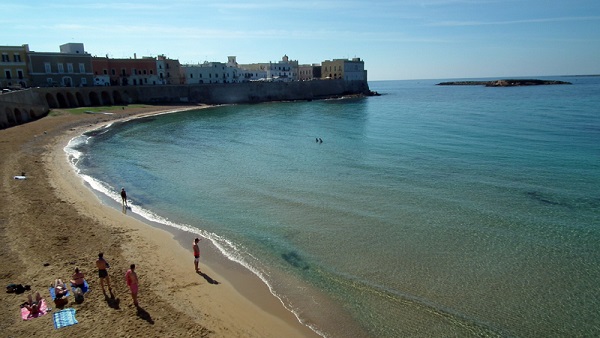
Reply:
[[29, 88], [0, 95], [0, 129], [44, 117], [53, 108], [142, 104], [233, 104], [369, 95], [367, 81], [315, 80], [167, 86]]

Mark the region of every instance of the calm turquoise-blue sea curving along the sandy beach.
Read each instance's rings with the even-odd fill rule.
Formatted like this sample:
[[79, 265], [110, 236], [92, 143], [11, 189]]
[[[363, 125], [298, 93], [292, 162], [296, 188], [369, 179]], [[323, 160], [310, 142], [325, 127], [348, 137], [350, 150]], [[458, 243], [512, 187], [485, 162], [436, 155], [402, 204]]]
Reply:
[[[600, 77], [165, 114], [71, 142], [328, 337], [600, 336]], [[317, 138], [322, 139], [317, 142]]]

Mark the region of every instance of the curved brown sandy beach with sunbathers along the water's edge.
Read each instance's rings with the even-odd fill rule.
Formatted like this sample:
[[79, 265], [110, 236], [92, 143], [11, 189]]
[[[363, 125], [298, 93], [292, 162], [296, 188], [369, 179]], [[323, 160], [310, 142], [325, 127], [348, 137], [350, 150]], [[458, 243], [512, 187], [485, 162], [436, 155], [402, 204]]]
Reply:
[[[21, 318], [27, 295], [2, 293], [4, 337], [318, 337], [298, 322], [266, 285], [220, 256], [208, 240], [196, 274], [192, 234], [153, 227], [103, 203], [67, 162], [63, 148], [85, 130], [117, 119], [196, 107], [145, 106], [113, 115], [53, 113], [0, 130], [0, 278], [30, 285], [49, 303], [49, 314]], [[16, 180], [24, 172], [27, 179]], [[103, 294], [95, 261], [110, 263], [114, 297]], [[131, 263], [140, 280], [133, 305], [124, 274]], [[90, 292], [77, 304], [78, 324], [55, 329], [49, 286], [69, 280], [75, 267]]]

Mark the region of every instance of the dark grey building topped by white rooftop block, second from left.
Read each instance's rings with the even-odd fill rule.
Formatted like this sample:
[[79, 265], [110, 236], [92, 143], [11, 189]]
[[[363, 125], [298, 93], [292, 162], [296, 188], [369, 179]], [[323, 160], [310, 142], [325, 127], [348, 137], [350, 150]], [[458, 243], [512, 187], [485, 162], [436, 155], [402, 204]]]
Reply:
[[27, 52], [31, 86], [83, 87], [93, 84], [92, 57], [83, 44], [65, 44], [61, 52]]

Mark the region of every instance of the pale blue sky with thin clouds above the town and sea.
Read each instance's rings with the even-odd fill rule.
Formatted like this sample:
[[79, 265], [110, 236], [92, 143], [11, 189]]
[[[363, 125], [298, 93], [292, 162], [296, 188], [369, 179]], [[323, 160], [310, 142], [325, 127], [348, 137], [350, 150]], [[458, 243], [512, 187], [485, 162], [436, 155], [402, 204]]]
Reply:
[[3, 1], [0, 45], [181, 63], [360, 57], [369, 80], [600, 74], [599, 0]]

